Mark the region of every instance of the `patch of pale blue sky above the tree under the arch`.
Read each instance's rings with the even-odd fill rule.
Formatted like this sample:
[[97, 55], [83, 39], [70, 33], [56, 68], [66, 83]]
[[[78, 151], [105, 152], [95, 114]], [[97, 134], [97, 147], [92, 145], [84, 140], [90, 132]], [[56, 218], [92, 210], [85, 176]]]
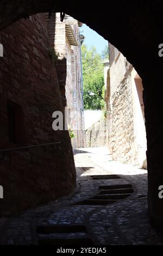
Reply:
[[85, 36], [84, 44], [87, 46], [95, 46], [97, 52], [101, 54], [104, 50], [105, 45], [108, 46], [108, 41], [106, 41], [101, 35], [97, 34], [93, 29], [89, 28], [85, 24], [80, 28], [80, 33]]

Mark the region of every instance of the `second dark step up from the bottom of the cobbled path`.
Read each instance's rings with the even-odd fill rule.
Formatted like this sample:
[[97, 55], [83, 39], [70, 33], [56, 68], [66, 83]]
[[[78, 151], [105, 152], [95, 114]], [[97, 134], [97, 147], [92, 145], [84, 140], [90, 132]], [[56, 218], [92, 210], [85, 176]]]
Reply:
[[41, 225], [36, 227], [37, 233], [51, 234], [51, 233], [70, 233], [70, 232], [86, 232], [85, 225]]

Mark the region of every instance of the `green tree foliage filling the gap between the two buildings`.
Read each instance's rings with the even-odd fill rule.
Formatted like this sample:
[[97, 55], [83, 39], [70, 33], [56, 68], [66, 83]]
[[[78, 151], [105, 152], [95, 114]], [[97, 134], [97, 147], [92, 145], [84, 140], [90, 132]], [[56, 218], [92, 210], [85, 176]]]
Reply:
[[[96, 47], [82, 45], [84, 109], [102, 109], [104, 107], [104, 70], [103, 60]], [[93, 95], [90, 95], [93, 94]]]

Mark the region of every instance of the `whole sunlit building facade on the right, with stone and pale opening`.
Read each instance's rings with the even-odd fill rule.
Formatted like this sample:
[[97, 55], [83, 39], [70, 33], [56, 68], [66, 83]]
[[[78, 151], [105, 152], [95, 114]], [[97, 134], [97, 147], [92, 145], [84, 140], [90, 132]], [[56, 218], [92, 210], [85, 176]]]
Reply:
[[112, 158], [147, 168], [142, 80], [123, 54], [111, 44], [109, 56], [105, 99]]

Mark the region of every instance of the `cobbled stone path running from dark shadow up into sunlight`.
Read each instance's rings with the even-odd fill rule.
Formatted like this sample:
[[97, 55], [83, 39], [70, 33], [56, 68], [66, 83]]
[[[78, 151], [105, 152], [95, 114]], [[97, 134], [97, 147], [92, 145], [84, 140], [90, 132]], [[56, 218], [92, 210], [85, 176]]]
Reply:
[[[147, 211], [147, 171], [111, 160], [106, 148], [74, 152], [77, 188], [73, 194], [22, 215], [0, 219], [1, 245], [37, 245], [39, 241], [83, 237], [94, 245], [163, 245], [151, 227]], [[91, 175], [117, 174], [121, 179], [92, 179]], [[100, 186], [131, 184], [131, 196], [108, 205], [79, 205], [99, 193]], [[38, 226], [72, 225], [70, 233], [39, 233]], [[86, 227], [86, 231], [83, 230]]]

